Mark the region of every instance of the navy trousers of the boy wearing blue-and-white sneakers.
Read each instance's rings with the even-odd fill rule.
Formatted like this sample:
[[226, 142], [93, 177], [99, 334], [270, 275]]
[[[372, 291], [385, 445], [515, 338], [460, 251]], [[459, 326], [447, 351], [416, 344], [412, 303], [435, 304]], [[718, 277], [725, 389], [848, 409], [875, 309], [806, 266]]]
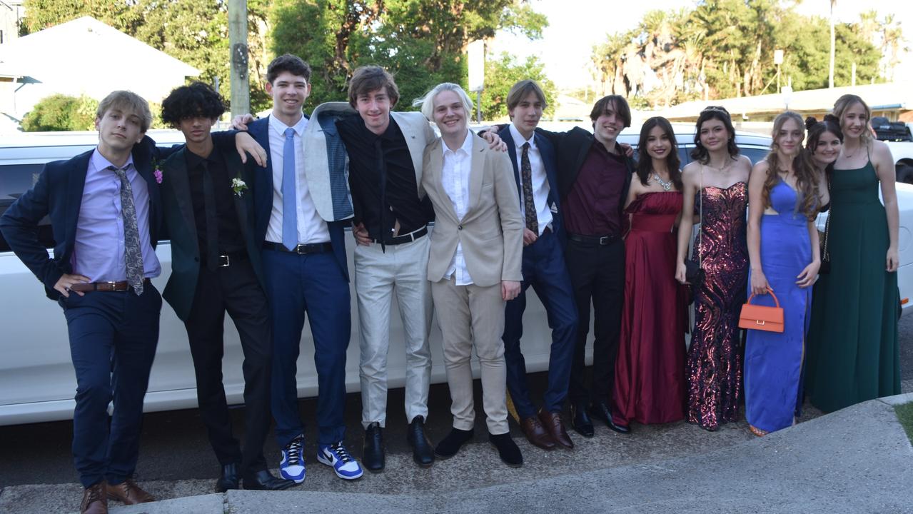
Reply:
[[345, 437], [345, 362], [352, 335], [349, 282], [330, 253], [299, 255], [264, 249], [264, 277], [272, 316], [272, 411], [279, 447], [304, 433], [298, 412], [298, 357], [305, 315], [317, 368], [317, 442]]

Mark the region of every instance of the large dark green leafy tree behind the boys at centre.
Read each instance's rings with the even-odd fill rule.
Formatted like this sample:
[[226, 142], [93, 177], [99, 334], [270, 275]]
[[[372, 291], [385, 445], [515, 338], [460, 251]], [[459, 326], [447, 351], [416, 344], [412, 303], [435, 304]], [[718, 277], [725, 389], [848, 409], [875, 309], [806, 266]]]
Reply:
[[465, 82], [470, 41], [547, 25], [520, 0], [276, 0], [269, 20], [273, 53], [310, 63], [313, 104], [345, 100], [352, 71], [377, 64], [396, 76], [401, 110], [438, 82]]

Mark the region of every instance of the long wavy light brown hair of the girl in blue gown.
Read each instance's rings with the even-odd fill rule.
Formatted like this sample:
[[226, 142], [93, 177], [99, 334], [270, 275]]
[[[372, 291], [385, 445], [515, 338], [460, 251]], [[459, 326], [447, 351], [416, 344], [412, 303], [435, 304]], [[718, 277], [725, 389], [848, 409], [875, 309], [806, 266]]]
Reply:
[[[764, 158], [767, 161], [767, 178], [764, 181], [764, 190], [761, 193], [764, 201], [764, 207], [771, 206], [771, 189], [780, 180], [780, 155], [777, 153], [777, 138], [786, 121], [795, 121], [796, 127], [803, 132], [805, 136], [805, 123], [798, 112], [787, 110], [781, 112], [773, 120], [773, 131], [771, 137], [771, 152]], [[792, 173], [796, 175], [796, 190], [799, 191], [799, 197], [796, 198], [796, 212], [801, 212], [809, 221], [813, 221], [818, 215], [818, 181], [815, 180], [815, 168], [812, 157], [808, 152], [803, 151], [802, 139], [799, 141], [798, 152], [792, 159]]]

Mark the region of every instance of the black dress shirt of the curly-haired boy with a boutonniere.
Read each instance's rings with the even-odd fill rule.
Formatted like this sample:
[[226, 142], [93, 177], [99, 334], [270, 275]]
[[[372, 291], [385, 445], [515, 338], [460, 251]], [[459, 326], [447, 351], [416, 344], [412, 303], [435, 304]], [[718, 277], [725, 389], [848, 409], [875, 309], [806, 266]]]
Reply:
[[[209, 236], [216, 237], [221, 254], [245, 249], [235, 208], [235, 192], [231, 188], [232, 179], [235, 177], [229, 176], [226, 163], [215, 140], [213, 141], [213, 151], [207, 157], [201, 157], [190, 150], [187, 150], [184, 155], [187, 162], [187, 178], [190, 182], [190, 197], [194, 204], [194, 221], [197, 241], [200, 245], [200, 256], [204, 260], [206, 259], [207, 237]], [[205, 173], [208, 173], [213, 179], [215, 233], [209, 226], [206, 226]]]

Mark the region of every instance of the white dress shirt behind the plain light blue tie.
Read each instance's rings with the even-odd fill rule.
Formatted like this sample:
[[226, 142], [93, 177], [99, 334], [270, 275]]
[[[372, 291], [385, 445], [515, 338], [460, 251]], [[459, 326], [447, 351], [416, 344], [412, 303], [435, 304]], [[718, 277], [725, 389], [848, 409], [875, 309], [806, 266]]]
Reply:
[[[291, 127], [295, 131], [295, 190], [298, 193], [298, 242], [300, 245], [310, 243], [327, 243], [330, 241], [330, 229], [327, 222], [317, 214], [317, 207], [310, 199], [308, 179], [304, 176], [304, 160], [307, 158], [301, 145], [301, 134], [308, 126], [308, 119], [301, 116], [298, 123]], [[282, 163], [285, 150], [285, 131], [289, 126], [275, 116], [269, 117], [269, 158], [273, 173], [273, 212], [269, 215], [267, 241], [282, 243]]]

